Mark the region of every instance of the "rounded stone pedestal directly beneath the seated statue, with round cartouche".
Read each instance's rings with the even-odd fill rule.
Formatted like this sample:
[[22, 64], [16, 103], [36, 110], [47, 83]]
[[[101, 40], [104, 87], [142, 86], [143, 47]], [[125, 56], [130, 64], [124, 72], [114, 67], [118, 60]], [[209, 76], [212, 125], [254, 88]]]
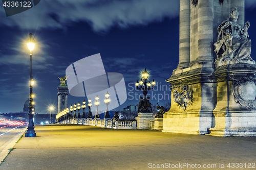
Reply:
[[217, 105], [210, 135], [256, 136], [256, 65], [217, 68]]

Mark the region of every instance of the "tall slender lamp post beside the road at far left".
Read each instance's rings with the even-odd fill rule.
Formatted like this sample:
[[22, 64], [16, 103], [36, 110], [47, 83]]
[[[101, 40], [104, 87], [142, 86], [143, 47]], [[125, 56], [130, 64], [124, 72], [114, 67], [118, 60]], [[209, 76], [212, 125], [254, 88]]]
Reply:
[[35, 133], [35, 130], [34, 130], [34, 122], [33, 122], [33, 109], [34, 109], [34, 106], [33, 106], [33, 97], [34, 97], [34, 94], [33, 94], [33, 84], [34, 84], [34, 80], [33, 80], [33, 77], [32, 77], [32, 50], [34, 50], [34, 47], [35, 47], [35, 40], [32, 38], [32, 34], [30, 33], [29, 34], [29, 38], [27, 39], [27, 45], [28, 45], [28, 48], [30, 50], [30, 93], [29, 93], [29, 126], [28, 126], [28, 130], [25, 134], [26, 137], [35, 137], [36, 136], [36, 133]]

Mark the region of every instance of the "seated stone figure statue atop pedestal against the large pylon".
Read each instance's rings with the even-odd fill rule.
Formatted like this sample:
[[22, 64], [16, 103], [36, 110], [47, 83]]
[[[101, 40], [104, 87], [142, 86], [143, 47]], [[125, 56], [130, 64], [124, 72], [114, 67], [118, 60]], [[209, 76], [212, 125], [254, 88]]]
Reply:
[[250, 57], [251, 40], [247, 32], [250, 22], [245, 22], [242, 28], [237, 23], [238, 16], [239, 11], [235, 8], [229, 18], [218, 27], [218, 41], [214, 44], [218, 66], [235, 63], [255, 64]]

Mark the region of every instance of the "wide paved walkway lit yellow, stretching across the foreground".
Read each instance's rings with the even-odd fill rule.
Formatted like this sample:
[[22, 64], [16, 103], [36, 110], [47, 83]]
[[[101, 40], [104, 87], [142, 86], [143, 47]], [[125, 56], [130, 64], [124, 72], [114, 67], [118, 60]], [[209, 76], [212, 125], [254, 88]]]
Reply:
[[[37, 137], [19, 140], [0, 166], [1, 170], [159, 169], [161, 164], [170, 169], [256, 168], [256, 137], [216, 137], [84, 125], [36, 126], [35, 131]], [[254, 168], [248, 168], [252, 163]], [[224, 164], [224, 168], [220, 168], [220, 164], [222, 167]]]

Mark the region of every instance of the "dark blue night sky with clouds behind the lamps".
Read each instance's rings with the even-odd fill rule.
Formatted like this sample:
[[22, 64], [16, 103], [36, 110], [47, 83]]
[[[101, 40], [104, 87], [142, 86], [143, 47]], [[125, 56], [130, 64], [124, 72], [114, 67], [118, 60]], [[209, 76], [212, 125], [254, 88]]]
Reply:
[[[246, 0], [245, 11], [245, 21], [251, 23], [251, 57], [256, 60], [256, 0]], [[155, 79], [162, 87], [169, 85], [165, 80], [179, 63], [178, 0], [45, 0], [9, 17], [1, 7], [0, 18], [0, 113], [23, 111], [28, 100], [29, 33], [36, 41], [32, 75], [37, 113], [49, 113], [50, 105], [57, 113], [57, 77], [65, 76], [66, 68], [84, 57], [100, 53], [106, 72], [124, 76], [129, 95], [114, 110], [139, 103], [135, 92], [142, 92], [133, 88], [144, 68], [150, 70], [150, 81]], [[170, 101], [166, 86], [154, 94], [152, 104]], [[87, 98], [69, 95], [68, 105], [83, 100]]]

